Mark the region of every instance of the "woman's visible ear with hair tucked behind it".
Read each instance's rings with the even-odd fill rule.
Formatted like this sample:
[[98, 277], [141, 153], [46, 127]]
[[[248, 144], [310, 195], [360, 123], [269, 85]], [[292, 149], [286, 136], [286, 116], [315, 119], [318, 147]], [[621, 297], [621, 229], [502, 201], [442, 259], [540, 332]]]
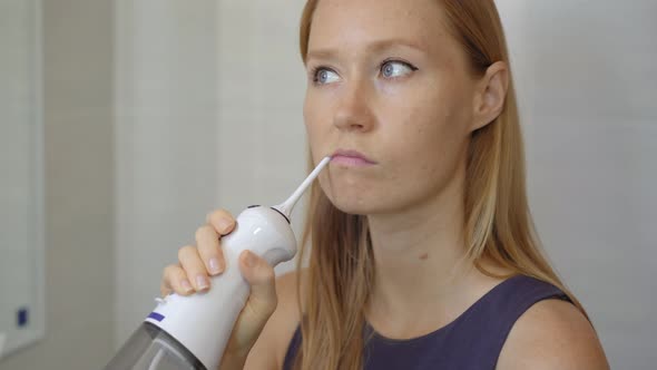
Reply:
[[477, 82], [472, 130], [493, 121], [502, 113], [509, 88], [509, 69], [503, 61], [496, 61]]

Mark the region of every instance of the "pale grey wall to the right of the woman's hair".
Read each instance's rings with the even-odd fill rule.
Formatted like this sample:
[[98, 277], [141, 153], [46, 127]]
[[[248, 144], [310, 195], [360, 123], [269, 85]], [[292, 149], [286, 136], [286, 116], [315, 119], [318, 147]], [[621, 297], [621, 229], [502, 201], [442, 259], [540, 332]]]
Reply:
[[498, 0], [540, 236], [612, 369], [657, 362], [657, 2]]

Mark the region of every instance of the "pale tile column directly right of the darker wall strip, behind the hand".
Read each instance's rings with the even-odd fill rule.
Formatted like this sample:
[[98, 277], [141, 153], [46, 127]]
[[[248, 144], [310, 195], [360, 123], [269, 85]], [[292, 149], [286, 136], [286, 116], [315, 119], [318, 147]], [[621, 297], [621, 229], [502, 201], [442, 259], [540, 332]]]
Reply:
[[115, 1], [116, 345], [216, 204], [216, 13], [215, 1]]

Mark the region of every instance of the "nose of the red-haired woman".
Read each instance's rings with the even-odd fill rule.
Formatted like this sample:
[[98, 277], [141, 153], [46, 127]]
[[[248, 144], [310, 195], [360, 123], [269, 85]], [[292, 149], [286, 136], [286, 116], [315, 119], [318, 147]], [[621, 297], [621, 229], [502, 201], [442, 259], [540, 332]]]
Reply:
[[344, 84], [340, 93], [339, 105], [333, 117], [333, 125], [343, 132], [367, 132], [374, 127], [371, 109], [371, 91], [365, 81]]

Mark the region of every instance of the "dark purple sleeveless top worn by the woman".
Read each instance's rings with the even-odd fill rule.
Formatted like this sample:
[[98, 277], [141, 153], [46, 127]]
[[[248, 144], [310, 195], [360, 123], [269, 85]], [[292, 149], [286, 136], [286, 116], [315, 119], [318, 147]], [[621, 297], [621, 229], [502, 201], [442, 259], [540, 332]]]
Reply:
[[[422, 337], [389, 339], [365, 323], [364, 338], [374, 335], [363, 350], [364, 370], [494, 369], [518, 318], [547, 299], [570, 302], [551, 284], [516, 275], [494, 286], [451, 323]], [[285, 354], [284, 370], [292, 369], [301, 340], [297, 327]]]

